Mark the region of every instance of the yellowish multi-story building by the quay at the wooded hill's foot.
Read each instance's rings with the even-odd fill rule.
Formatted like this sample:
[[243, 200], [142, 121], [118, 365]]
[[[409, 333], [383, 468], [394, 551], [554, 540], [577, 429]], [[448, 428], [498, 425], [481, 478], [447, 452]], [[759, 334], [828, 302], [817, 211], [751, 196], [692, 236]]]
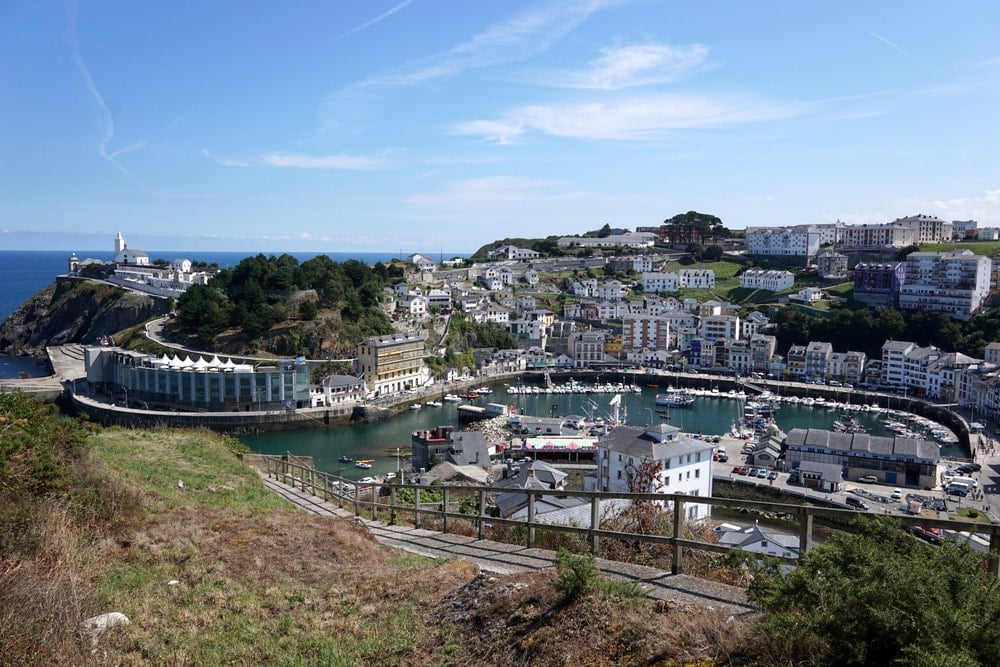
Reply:
[[394, 333], [366, 338], [358, 344], [358, 370], [369, 395], [415, 389], [429, 379], [424, 366], [424, 337]]

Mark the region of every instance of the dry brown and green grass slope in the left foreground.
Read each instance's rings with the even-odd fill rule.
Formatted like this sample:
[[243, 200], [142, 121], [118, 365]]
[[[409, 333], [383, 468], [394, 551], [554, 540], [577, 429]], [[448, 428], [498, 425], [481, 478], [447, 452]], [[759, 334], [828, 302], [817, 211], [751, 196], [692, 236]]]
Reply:
[[[289, 509], [211, 433], [108, 429], [93, 450], [74, 495], [3, 524], [31, 529], [0, 561], [2, 664], [709, 665], [751, 645], [748, 620], [614, 587], [563, 604], [550, 572], [381, 546]], [[131, 623], [80, 632], [109, 611]]]

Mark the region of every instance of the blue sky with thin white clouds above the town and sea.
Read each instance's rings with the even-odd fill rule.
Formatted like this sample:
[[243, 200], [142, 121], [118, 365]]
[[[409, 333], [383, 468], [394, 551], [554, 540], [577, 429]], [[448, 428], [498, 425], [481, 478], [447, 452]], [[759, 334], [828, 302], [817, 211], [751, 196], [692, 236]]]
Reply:
[[1000, 226], [1000, 3], [0, 3], [0, 248]]

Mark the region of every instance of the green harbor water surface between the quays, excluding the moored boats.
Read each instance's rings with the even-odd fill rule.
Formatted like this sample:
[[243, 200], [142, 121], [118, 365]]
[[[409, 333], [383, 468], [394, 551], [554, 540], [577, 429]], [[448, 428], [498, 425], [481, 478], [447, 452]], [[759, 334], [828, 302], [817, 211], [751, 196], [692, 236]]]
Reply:
[[[634, 426], [649, 423], [672, 424], [688, 433], [720, 435], [729, 433], [732, 424], [743, 411], [742, 401], [731, 398], [699, 397], [690, 408], [671, 409], [669, 420], [656, 412], [656, 394], [663, 389], [643, 387], [640, 393], [622, 394], [623, 412], [627, 422]], [[493, 393], [466, 401], [473, 405], [504, 403], [514, 405], [522, 415], [539, 417], [584, 415], [604, 417], [612, 412], [610, 401], [614, 394], [530, 394], [510, 395], [506, 386], [493, 387]], [[378, 475], [394, 471], [397, 466], [409, 469], [410, 434], [414, 431], [431, 429], [442, 425], [463, 428], [458, 421], [458, 403], [445, 402], [441, 407], [424, 406], [419, 410], [407, 410], [393, 419], [371, 424], [352, 426], [331, 426], [323, 429], [292, 431], [284, 433], [263, 433], [247, 435], [240, 440], [260, 454], [296, 454], [311, 456], [317, 468], [336, 473], [348, 479], [359, 479], [366, 475]], [[793, 428], [832, 429], [833, 422], [844, 415], [843, 409], [805, 407], [781, 403], [776, 415], [776, 423], [783, 431]], [[892, 435], [883, 420], [890, 416], [882, 412], [850, 413], [857, 418], [872, 435]], [[399, 458], [397, 459], [397, 448]], [[943, 447], [942, 455], [960, 455], [957, 449]], [[338, 458], [374, 459], [372, 468], [359, 469], [353, 463], [341, 463]]]

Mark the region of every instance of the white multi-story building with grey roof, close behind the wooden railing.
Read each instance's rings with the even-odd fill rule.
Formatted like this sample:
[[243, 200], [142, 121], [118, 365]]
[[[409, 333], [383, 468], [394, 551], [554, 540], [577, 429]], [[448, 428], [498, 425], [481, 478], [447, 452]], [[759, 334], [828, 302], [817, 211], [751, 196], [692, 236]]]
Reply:
[[[609, 493], [712, 495], [712, 444], [658, 424], [646, 429], [618, 426], [597, 443], [597, 475], [584, 488]], [[711, 507], [685, 504], [685, 518], [709, 518]]]

